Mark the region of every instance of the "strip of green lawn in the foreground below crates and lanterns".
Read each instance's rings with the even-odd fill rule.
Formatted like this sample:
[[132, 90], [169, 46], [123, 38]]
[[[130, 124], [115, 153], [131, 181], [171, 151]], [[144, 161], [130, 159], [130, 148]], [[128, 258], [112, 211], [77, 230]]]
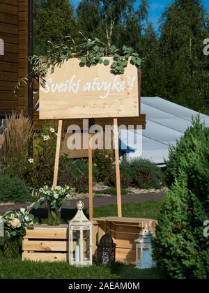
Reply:
[[66, 262], [22, 262], [0, 253], [0, 279], [163, 279], [159, 269], [136, 269], [133, 265], [76, 267]]

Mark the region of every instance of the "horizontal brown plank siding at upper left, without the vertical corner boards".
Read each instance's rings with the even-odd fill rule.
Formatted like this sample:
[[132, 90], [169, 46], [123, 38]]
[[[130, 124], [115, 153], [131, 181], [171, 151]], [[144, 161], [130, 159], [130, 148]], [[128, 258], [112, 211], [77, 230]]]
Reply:
[[0, 56], [0, 112], [17, 110], [13, 89], [18, 78], [18, 1], [0, 0], [0, 38], [4, 56]]

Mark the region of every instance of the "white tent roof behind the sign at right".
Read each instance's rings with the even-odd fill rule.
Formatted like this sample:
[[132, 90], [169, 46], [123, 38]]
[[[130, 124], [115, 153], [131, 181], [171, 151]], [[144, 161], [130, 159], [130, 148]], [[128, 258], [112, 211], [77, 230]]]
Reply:
[[[125, 156], [128, 160], [141, 157], [156, 164], [164, 164], [169, 145], [176, 145], [176, 141], [191, 125], [192, 117], [199, 114], [159, 97], [141, 98], [141, 113], [146, 114], [146, 130], [128, 130], [128, 139], [123, 140], [122, 137], [121, 146], [124, 149], [124, 144], [127, 144]], [[200, 117], [209, 127], [209, 117], [205, 114], [200, 114]], [[134, 143], [136, 137], [137, 144]]]

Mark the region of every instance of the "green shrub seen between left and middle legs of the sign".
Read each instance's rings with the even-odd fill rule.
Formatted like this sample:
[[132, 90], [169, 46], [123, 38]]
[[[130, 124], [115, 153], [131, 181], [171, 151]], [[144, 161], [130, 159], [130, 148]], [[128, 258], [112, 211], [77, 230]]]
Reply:
[[[97, 178], [97, 169], [93, 167], [93, 179], [96, 180]], [[88, 160], [74, 160], [62, 156], [59, 170], [59, 184], [61, 186], [67, 184], [71, 188], [75, 188], [78, 193], [87, 193]]]

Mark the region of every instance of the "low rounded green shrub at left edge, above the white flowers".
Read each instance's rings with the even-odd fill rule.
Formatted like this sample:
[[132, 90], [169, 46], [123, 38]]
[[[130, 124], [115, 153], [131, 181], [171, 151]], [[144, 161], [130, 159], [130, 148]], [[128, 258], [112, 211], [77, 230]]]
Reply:
[[28, 200], [29, 195], [24, 181], [8, 174], [0, 175], [0, 202], [22, 203]]

